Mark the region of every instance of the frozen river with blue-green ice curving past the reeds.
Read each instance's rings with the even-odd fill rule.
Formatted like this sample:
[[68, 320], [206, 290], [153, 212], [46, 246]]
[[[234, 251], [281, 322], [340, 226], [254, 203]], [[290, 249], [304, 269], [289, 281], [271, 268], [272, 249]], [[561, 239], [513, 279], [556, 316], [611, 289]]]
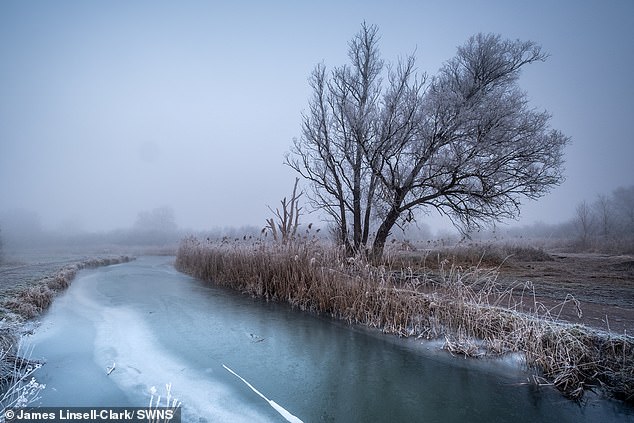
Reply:
[[[187, 422], [580, 422], [634, 419], [464, 360], [204, 285], [170, 257], [80, 272], [26, 341], [47, 364], [35, 405], [145, 406], [172, 384]], [[115, 364], [109, 375], [107, 368]]]

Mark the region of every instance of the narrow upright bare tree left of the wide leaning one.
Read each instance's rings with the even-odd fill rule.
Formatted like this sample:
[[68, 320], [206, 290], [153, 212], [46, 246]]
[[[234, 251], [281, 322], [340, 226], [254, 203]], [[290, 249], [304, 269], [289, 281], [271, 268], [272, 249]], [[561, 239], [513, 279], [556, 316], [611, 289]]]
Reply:
[[374, 142], [380, 101], [378, 29], [364, 23], [348, 56], [350, 66], [330, 74], [323, 65], [313, 70], [303, 135], [294, 140], [293, 156], [286, 162], [312, 182], [313, 205], [330, 215], [341, 243], [353, 252], [368, 241], [376, 189], [364, 153]]

